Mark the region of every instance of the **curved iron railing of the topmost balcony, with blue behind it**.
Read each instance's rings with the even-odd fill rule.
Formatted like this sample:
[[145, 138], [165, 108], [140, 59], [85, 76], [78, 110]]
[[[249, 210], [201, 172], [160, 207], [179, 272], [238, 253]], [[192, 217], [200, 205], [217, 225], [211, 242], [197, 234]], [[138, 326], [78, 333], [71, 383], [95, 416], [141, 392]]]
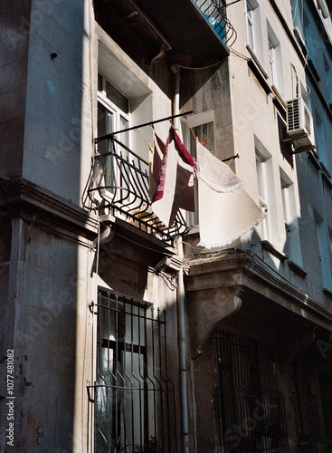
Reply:
[[226, 4], [223, 0], [193, 0], [203, 12], [207, 21], [213, 26], [216, 34], [222, 38], [223, 43], [229, 47], [237, 38], [231, 22], [226, 15]]

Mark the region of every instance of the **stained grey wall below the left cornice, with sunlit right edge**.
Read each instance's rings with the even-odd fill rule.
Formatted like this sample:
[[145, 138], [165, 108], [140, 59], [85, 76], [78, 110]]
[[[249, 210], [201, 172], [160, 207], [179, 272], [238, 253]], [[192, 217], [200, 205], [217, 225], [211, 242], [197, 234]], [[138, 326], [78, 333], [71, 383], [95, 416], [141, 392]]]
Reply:
[[75, 437], [83, 451], [88, 425], [81, 417], [92, 379], [87, 275], [93, 253], [49, 227], [20, 218], [12, 223], [2, 344], [14, 349], [14, 445], [17, 451], [73, 451]]

